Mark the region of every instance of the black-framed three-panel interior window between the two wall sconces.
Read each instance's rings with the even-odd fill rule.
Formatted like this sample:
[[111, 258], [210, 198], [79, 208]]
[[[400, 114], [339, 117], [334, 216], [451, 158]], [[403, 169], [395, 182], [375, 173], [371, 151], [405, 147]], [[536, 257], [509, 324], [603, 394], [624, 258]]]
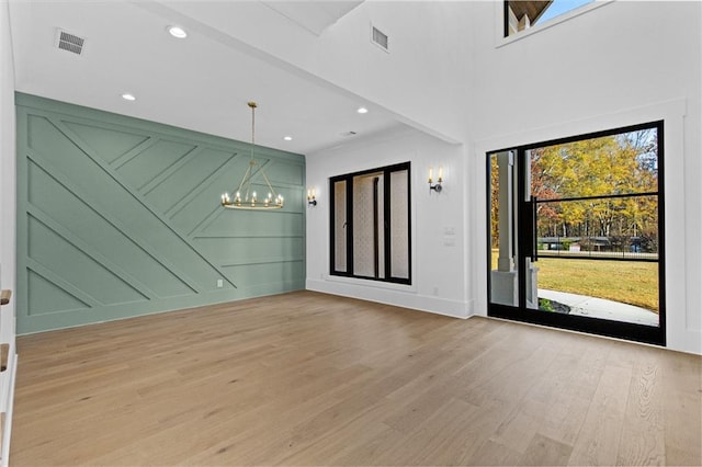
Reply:
[[411, 284], [410, 164], [330, 179], [330, 273]]

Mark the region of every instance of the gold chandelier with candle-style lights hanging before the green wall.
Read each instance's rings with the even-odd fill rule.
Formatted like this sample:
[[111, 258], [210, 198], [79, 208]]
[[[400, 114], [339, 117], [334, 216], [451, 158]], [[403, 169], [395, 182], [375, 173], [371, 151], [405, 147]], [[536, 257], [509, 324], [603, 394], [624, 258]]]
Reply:
[[[239, 183], [234, 200], [229, 196], [229, 193], [222, 195], [222, 205], [229, 209], [280, 209], [283, 207], [283, 196], [275, 193], [270, 180], [265, 176], [265, 172], [261, 167], [257, 170], [256, 167], [259, 163], [253, 158], [253, 151], [256, 148], [256, 102], [249, 102], [251, 107], [251, 158], [249, 159], [249, 167]], [[268, 196], [260, 200], [256, 194], [256, 191], [251, 186], [254, 175], [261, 174], [265, 184], [268, 185]]]

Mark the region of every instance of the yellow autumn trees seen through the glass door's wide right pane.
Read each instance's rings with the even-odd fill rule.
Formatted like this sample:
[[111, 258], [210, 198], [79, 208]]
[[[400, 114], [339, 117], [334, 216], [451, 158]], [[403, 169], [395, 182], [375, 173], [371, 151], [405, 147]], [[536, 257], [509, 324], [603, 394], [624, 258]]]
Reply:
[[[658, 140], [655, 129], [531, 150], [531, 194], [539, 235], [652, 236], [657, 232]], [[597, 198], [609, 195], [631, 197]], [[588, 198], [567, 201], [568, 198]]]

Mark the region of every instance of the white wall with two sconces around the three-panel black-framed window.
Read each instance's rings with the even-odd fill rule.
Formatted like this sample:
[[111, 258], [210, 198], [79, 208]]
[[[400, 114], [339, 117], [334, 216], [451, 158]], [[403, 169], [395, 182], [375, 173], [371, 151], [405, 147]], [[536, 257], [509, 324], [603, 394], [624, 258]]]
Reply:
[[[408, 127], [307, 157], [307, 185], [318, 204], [307, 209], [307, 288], [466, 317], [463, 258], [465, 152]], [[329, 178], [411, 162], [411, 286], [329, 275]], [[443, 167], [441, 193], [429, 191], [428, 170]], [[434, 175], [435, 176], [435, 175]]]

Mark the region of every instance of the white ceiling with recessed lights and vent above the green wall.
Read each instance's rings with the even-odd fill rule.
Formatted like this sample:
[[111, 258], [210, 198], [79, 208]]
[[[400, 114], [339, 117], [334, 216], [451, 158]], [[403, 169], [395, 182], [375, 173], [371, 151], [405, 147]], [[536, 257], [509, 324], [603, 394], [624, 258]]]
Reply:
[[[235, 2], [201, 2], [219, 10]], [[276, 21], [320, 35], [361, 1], [260, 1]], [[162, 7], [162, 8], [161, 8]], [[219, 11], [218, 10], [218, 11]], [[248, 141], [257, 101], [256, 141], [310, 153], [403, 126], [389, 112], [291, 66], [233, 46], [226, 32], [181, 15], [184, 39], [171, 37], [161, 2], [11, 0], [15, 88], [123, 115]], [[192, 11], [192, 9], [191, 9]], [[210, 12], [212, 14], [212, 11]], [[265, 27], [261, 24], [260, 27]], [[56, 46], [57, 31], [86, 39], [80, 55]], [[203, 34], [205, 32], [205, 34]], [[207, 34], [207, 32], [210, 34]], [[271, 33], [275, 33], [272, 31]], [[136, 101], [121, 96], [133, 93]], [[359, 114], [360, 106], [369, 107]], [[354, 132], [355, 136], [347, 136]], [[292, 136], [291, 141], [283, 140]]]

